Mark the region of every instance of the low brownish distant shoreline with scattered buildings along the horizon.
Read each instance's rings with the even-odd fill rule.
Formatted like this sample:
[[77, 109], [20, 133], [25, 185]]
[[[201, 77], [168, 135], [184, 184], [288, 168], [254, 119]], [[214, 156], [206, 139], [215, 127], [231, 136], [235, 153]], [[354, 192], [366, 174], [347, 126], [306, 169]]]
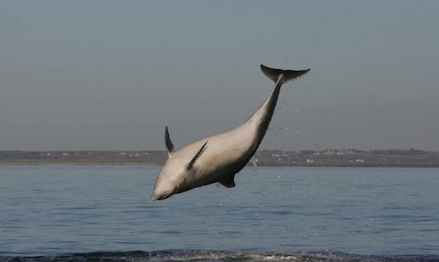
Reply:
[[[0, 151], [0, 165], [161, 166], [167, 153], [143, 151]], [[260, 150], [248, 166], [439, 168], [439, 152], [424, 150]]]

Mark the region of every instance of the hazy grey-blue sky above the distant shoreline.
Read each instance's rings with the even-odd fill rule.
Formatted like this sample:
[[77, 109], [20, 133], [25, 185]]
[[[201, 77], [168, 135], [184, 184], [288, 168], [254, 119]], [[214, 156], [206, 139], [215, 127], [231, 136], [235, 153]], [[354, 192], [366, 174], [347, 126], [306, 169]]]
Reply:
[[244, 122], [260, 149], [439, 151], [439, 1], [0, 1], [0, 150], [165, 150]]

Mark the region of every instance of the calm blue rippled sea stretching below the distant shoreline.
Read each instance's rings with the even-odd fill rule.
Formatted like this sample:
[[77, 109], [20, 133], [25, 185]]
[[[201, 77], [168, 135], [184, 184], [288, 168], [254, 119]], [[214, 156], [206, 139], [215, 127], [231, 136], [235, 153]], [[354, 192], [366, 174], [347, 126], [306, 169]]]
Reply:
[[158, 166], [0, 166], [0, 261], [439, 261], [438, 168], [244, 168], [150, 195]]

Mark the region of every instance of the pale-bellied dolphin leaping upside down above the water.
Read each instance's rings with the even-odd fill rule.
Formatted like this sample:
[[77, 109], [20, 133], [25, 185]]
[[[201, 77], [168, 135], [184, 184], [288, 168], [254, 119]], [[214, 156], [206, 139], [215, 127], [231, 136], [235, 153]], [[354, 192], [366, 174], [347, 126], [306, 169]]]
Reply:
[[309, 69], [282, 70], [262, 64], [261, 70], [276, 84], [261, 107], [241, 125], [196, 140], [178, 150], [174, 150], [166, 127], [168, 158], [156, 178], [151, 196], [153, 201], [217, 182], [229, 188], [235, 187], [235, 174], [250, 161], [268, 129], [281, 86], [309, 72]]

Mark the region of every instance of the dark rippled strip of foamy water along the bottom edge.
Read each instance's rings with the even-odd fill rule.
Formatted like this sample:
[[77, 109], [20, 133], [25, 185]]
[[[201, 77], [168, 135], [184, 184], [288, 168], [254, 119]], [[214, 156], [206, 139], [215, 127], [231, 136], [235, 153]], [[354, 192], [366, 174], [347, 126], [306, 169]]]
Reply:
[[133, 261], [133, 262], [175, 262], [175, 261], [239, 261], [239, 262], [433, 262], [439, 256], [399, 256], [375, 257], [357, 254], [332, 252], [225, 252], [209, 250], [165, 250], [165, 251], [130, 251], [130, 252], [93, 252], [79, 254], [62, 254], [55, 257], [0, 257], [1, 262], [84, 262], [84, 261]]

